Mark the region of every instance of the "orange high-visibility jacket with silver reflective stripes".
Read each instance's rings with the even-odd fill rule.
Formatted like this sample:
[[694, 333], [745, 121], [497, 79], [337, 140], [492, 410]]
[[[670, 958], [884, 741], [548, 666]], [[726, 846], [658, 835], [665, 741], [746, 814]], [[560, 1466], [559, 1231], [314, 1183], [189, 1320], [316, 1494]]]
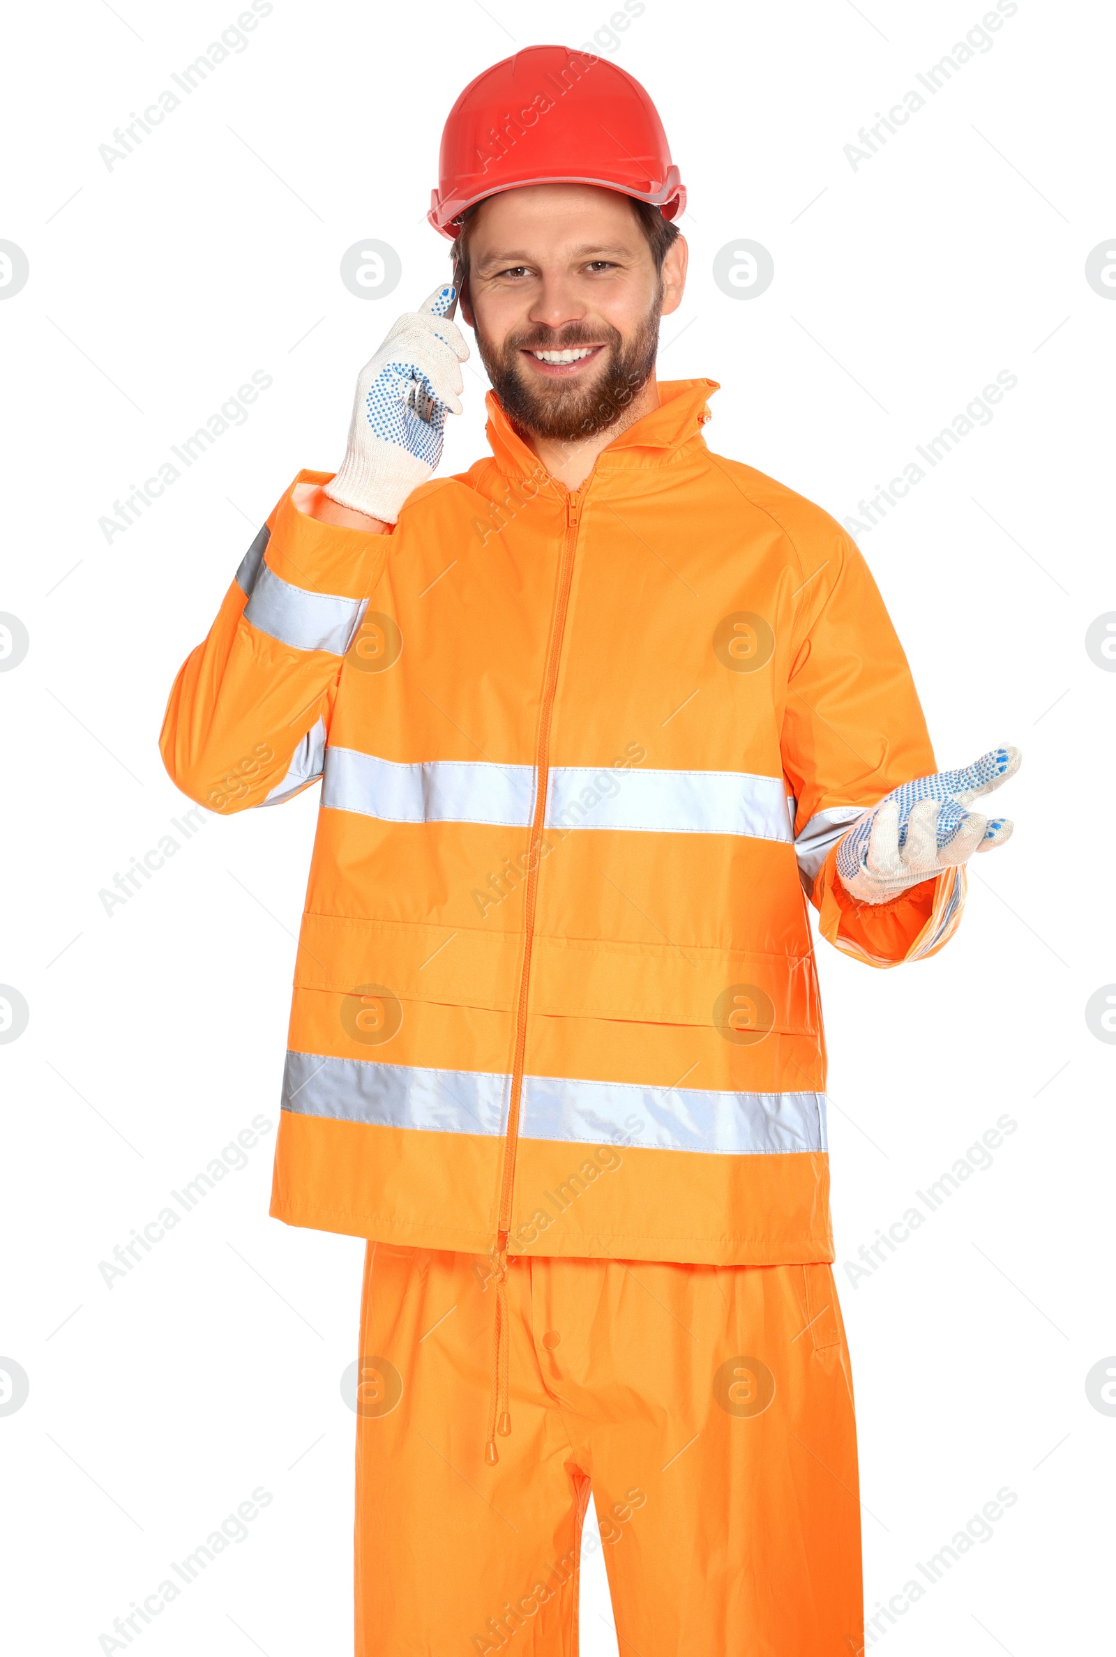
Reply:
[[[935, 771], [861, 553], [660, 386], [577, 490], [491, 459], [393, 534], [294, 486], [177, 676], [219, 812], [322, 779], [272, 1213], [423, 1248], [832, 1259], [804, 891], [874, 966], [963, 875], [857, 906], [847, 825]], [[297, 482], [330, 474], [302, 472]]]

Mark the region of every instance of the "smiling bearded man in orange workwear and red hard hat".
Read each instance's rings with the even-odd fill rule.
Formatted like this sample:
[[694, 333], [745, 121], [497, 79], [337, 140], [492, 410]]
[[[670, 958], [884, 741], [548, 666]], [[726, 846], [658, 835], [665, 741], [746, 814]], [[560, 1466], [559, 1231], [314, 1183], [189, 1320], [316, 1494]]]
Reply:
[[[614, 65], [466, 88], [453, 283], [167, 709], [214, 810], [323, 779], [272, 1213], [368, 1239], [361, 1657], [575, 1650], [590, 1490], [624, 1650], [862, 1642], [803, 891], [862, 961], [934, 954], [1018, 756], [935, 771], [856, 545], [657, 381], [683, 205]], [[492, 454], [431, 481], [458, 295]]]

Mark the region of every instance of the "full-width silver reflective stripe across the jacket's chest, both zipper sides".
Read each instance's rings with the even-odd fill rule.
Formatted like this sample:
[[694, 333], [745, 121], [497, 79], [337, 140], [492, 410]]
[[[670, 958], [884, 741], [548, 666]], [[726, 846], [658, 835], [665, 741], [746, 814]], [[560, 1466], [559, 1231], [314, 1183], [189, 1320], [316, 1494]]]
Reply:
[[[325, 752], [322, 804], [385, 822], [499, 824], [529, 828], [534, 766], [431, 759], [405, 766], [352, 747]], [[627, 771], [557, 766], [547, 828], [793, 837], [783, 782], [731, 771]]]

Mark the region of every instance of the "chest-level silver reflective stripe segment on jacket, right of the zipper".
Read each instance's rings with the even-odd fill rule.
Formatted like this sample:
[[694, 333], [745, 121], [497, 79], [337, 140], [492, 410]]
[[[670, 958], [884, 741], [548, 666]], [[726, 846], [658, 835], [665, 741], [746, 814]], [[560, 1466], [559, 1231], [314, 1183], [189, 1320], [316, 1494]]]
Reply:
[[783, 779], [746, 771], [556, 766], [546, 825], [794, 838]]

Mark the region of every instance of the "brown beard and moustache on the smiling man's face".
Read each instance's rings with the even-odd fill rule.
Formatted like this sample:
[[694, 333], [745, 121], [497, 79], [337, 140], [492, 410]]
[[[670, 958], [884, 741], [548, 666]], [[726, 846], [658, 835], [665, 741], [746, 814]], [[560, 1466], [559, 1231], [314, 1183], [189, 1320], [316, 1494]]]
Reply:
[[[565, 328], [524, 328], [509, 335], [499, 350], [478, 328], [476, 345], [501, 408], [519, 432], [579, 442], [612, 426], [650, 379], [660, 316], [662, 290], [627, 341], [609, 323], [569, 323]], [[521, 351], [567, 351], [579, 345], [602, 346], [604, 366], [589, 384], [527, 381], [531, 370], [524, 366]]]

